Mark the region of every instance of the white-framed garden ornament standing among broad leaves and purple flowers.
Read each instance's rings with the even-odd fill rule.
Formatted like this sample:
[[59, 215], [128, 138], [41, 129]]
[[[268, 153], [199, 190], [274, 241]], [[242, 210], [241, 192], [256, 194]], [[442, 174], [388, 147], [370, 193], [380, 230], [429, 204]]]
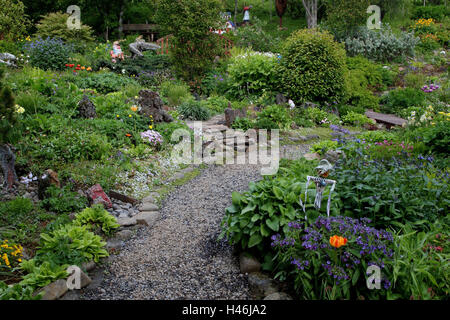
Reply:
[[302, 202], [302, 198], [300, 197], [300, 205], [303, 208], [303, 212], [305, 212], [305, 220], [307, 219], [306, 217], [306, 200], [308, 197], [308, 186], [309, 183], [312, 181], [314, 181], [314, 183], [316, 184], [316, 198], [314, 200], [314, 207], [316, 208], [316, 210], [320, 210], [321, 204], [322, 204], [322, 198], [323, 198], [323, 192], [325, 190], [325, 188], [327, 187], [327, 185], [331, 185], [331, 190], [330, 190], [330, 194], [328, 195], [328, 203], [327, 203], [327, 216], [330, 216], [330, 204], [331, 204], [331, 194], [334, 191], [334, 188], [336, 186], [336, 181], [334, 180], [328, 180], [326, 179], [329, 174], [330, 171], [333, 170], [333, 166], [328, 162], [328, 160], [323, 159], [319, 162], [319, 165], [316, 167], [316, 170], [318, 172], [318, 177], [312, 177], [312, 176], [307, 176], [306, 179], [306, 186], [305, 186], [305, 203], [303, 204]]

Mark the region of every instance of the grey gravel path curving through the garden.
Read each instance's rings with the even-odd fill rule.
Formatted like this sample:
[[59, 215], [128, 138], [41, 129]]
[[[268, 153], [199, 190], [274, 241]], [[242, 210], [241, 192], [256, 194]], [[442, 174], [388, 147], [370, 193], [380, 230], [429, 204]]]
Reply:
[[226, 240], [217, 242], [231, 192], [261, 179], [258, 166], [209, 166], [161, 204], [162, 219], [140, 228], [81, 299], [250, 299]]

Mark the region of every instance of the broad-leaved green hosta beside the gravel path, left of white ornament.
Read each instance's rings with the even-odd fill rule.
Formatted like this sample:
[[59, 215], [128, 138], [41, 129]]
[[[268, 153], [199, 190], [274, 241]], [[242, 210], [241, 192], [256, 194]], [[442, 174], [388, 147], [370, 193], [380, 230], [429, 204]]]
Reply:
[[[278, 177], [265, 177], [259, 182], [251, 182], [249, 191], [232, 193], [232, 205], [225, 210], [220, 238], [226, 236], [230, 243], [240, 249], [254, 251], [264, 258], [265, 269], [273, 269], [270, 238], [288, 230], [291, 221], [304, 218], [305, 213], [299, 204], [299, 195], [304, 201], [306, 176], [312, 173], [316, 164], [306, 160], [288, 163], [280, 168]], [[306, 215], [314, 219], [318, 216], [313, 202], [315, 189], [308, 189]], [[329, 190], [324, 192], [327, 199]], [[332, 202], [334, 203], [334, 202]], [[332, 206], [332, 211], [336, 208]], [[326, 211], [326, 205], [321, 207]]]

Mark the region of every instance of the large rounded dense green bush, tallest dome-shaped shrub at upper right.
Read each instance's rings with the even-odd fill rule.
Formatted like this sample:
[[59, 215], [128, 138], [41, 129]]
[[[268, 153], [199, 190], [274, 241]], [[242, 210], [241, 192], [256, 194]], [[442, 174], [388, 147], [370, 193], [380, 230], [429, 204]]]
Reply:
[[277, 72], [294, 102], [340, 102], [346, 94], [345, 50], [327, 32], [294, 32], [283, 46]]

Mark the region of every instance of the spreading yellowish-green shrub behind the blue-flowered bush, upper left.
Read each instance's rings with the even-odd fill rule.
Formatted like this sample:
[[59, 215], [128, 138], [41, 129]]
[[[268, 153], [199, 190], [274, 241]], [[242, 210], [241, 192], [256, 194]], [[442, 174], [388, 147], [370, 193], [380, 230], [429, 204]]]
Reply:
[[65, 42], [86, 42], [93, 41], [92, 29], [84, 24], [79, 29], [70, 29], [67, 27], [67, 13], [49, 13], [42, 17], [36, 25], [36, 34], [42, 38], [62, 39]]

